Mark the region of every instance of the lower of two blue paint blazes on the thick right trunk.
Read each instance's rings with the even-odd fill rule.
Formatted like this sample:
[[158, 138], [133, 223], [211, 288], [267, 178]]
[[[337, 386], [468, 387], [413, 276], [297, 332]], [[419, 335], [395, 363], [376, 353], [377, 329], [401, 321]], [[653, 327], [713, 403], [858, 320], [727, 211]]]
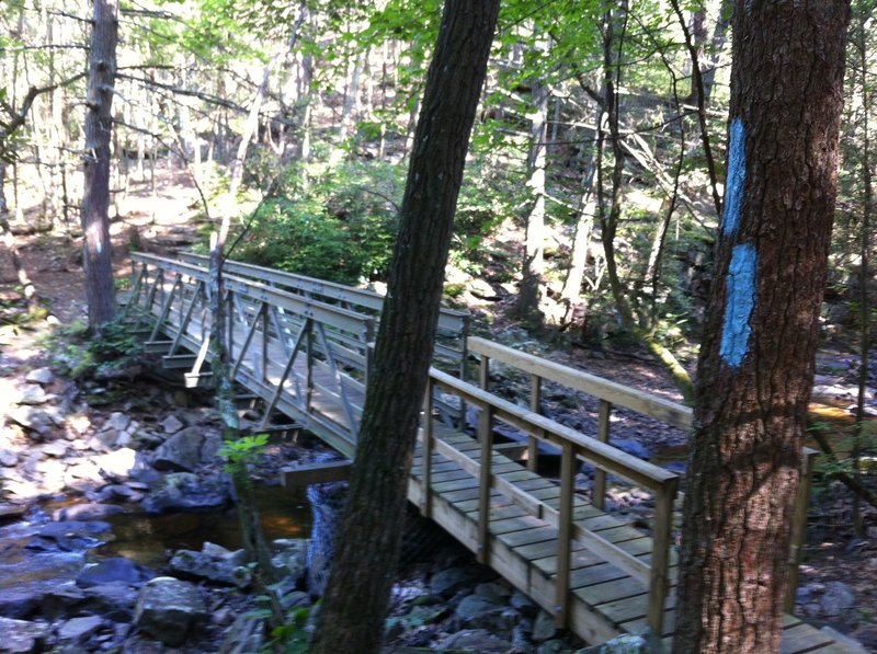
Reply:
[[731, 368], [739, 368], [747, 354], [752, 325], [749, 319], [755, 308], [755, 274], [759, 254], [754, 245], [743, 243], [731, 251], [728, 267], [728, 288], [725, 301], [725, 323], [721, 329], [719, 355]]

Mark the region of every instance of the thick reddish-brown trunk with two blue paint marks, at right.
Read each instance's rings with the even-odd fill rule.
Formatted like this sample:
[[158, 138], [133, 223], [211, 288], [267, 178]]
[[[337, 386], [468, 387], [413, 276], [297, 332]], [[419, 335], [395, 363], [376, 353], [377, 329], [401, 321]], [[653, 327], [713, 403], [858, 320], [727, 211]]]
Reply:
[[836, 188], [848, 2], [737, 0], [674, 652], [778, 652]]

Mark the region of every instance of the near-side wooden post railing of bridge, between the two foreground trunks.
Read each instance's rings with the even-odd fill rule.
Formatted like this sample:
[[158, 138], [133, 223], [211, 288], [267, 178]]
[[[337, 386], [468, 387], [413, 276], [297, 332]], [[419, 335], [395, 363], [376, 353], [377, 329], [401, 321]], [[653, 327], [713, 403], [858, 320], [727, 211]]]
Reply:
[[[670, 539], [673, 521], [673, 503], [679, 478], [658, 466], [642, 461], [607, 444], [556, 423], [538, 413], [498, 398], [476, 386], [466, 383], [445, 372], [432, 369], [426, 392], [424, 414], [433, 413], [432, 399], [435, 389], [454, 394], [474, 406], [479, 414], [478, 440], [480, 456], [476, 460], [444, 440], [434, 437], [433, 421], [424, 421], [422, 429], [423, 470], [421, 492], [424, 509], [429, 513], [432, 484], [432, 455], [437, 452], [453, 460], [462, 469], [479, 479], [478, 503], [478, 557], [485, 563], [490, 560], [490, 495], [499, 491], [529, 514], [547, 521], [558, 530], [558, 554], [556, 576], [556, 606], [558, 622], [563, 626], [569, 616], [571, 553], [581, 544], [601, 555], [606, 562], [640, 581], [649, 592], [648, 621], [656, 633], [662, 632], [664, 605], [670, 587]], [[554, 508], [491, 470], [493, 428], [502, 421], [526, 433], [531, 438], [550, 443], [561, 451], [560, 506]], [[649, 489], [654, 495], [652, 528], [652, 553], [649, 563], [624, 551], [599, 533], [573, 520], [574, 479], [581, 461], [594, 464], [599, 470], [617, 474]]]

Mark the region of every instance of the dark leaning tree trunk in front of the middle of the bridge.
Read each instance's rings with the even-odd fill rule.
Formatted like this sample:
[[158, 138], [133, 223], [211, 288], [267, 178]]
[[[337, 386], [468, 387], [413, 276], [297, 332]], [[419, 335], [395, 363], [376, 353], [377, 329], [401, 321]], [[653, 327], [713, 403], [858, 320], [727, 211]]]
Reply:
[[469, 134], [499, 0], [446, 0], [312, 654], [378, 652]]

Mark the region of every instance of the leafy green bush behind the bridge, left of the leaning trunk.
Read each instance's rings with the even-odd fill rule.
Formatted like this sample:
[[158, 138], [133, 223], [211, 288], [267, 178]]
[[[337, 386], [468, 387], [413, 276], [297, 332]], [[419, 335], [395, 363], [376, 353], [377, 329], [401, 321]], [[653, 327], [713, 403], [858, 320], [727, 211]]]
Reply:
[[236, 256], [343, 284], [385, 279], [400, 188], [400, 170], [383, 162], [323, 171], [307, 187], [293, 171], [282, 196], [259, 208]]

